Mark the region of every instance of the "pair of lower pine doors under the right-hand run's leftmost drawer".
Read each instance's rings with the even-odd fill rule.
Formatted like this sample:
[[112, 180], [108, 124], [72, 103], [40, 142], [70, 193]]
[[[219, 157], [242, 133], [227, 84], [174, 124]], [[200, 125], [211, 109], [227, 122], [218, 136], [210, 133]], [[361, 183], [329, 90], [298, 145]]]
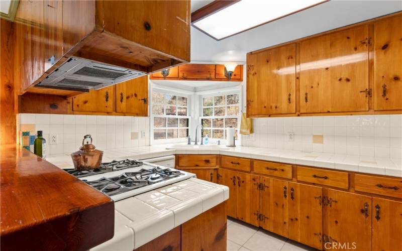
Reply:
[[258, 226], [259, 176], [220, 168], [219, 184], [229, 187], [228, 215]]

